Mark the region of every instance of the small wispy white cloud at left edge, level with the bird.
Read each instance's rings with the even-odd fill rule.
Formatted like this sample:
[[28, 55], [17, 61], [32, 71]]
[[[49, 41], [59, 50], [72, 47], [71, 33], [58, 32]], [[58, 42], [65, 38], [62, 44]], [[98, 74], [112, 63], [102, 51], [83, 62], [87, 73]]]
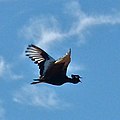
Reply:
[[12, 80], [22, 79], [22, 75], [15, 74], [12, 70], [12, 66], [7, 63], [3, 57], [0, 56], [0, 78], [9, 78]]

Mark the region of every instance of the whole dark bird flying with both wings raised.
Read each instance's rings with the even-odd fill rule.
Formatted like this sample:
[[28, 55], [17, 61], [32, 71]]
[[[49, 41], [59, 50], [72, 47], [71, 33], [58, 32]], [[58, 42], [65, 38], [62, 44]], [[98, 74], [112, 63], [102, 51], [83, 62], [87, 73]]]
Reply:
[[40, 69], [39, 77], [33, 79], [31, 84], [47, 83], [60, 86], [64, 83], [77, 84], [81, 82], [82, 77], [79, 75], [71, 74], [71, 77], [66, 75], [68, 65], [71, 62], [71, 49], [57, 60], [34, 44], [28, 45], [25, 53]]

